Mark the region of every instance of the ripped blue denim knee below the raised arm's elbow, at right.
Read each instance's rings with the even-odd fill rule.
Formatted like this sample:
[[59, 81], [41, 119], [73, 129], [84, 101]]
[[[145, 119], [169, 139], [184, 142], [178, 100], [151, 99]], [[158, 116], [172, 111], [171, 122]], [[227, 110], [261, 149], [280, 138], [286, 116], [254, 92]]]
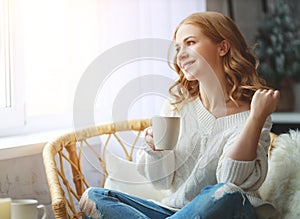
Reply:
[[220, 183], [207, 186], [188, 205], [169, 217], [172, 219], [254, 219], [254, 208], [236, 185]]

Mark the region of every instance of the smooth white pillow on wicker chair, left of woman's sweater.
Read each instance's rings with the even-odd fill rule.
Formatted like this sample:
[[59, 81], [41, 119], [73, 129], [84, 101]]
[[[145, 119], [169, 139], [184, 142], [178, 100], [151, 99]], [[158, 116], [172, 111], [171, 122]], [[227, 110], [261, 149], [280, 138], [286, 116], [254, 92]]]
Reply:
[[104, 188], [155, 201], [160, 201], [164, 197], [163, 191], [155, 189], [151, 182], [138, 173], [134, 162], [120, 158], [109, 151], [106, 152], [105, 157], [108, 177]]

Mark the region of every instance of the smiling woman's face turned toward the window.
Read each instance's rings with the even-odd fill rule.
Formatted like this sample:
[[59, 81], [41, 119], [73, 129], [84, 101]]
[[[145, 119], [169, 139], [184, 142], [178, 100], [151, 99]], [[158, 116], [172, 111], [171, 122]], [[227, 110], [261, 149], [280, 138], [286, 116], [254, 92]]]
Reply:
[[183, 24], [176, 33], [177, 65], [189, 81], [210, 74], [219, 60], [218, 45], [192, 24]]

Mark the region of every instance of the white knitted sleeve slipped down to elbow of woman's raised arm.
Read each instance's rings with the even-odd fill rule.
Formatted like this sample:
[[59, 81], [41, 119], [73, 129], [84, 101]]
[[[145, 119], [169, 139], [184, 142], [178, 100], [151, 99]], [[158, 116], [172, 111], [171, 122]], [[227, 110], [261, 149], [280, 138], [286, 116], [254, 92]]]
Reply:
[[232, 134], [220, 157], [217, 167], [218, 182], [231, 182], [245, 191], [256, 191], [266, 178], [268, 170], [267, 150], [270, 144], [271, 120], [266, 121], [259, 139], [257, 156], [253, 161], [237, 161], [225, 154], [237, 139], [239, 131]]

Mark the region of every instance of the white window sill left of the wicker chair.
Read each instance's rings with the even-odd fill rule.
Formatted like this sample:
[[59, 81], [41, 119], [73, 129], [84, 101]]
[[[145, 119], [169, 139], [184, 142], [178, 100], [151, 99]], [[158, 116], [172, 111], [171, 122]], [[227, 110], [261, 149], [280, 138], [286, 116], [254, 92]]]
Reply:
[[1, 129], [0, 160], [42, 153], [49, 140], [71, 130], [72, 121], [72, 114], [65, 113], [28, 118], [23, 127]]

